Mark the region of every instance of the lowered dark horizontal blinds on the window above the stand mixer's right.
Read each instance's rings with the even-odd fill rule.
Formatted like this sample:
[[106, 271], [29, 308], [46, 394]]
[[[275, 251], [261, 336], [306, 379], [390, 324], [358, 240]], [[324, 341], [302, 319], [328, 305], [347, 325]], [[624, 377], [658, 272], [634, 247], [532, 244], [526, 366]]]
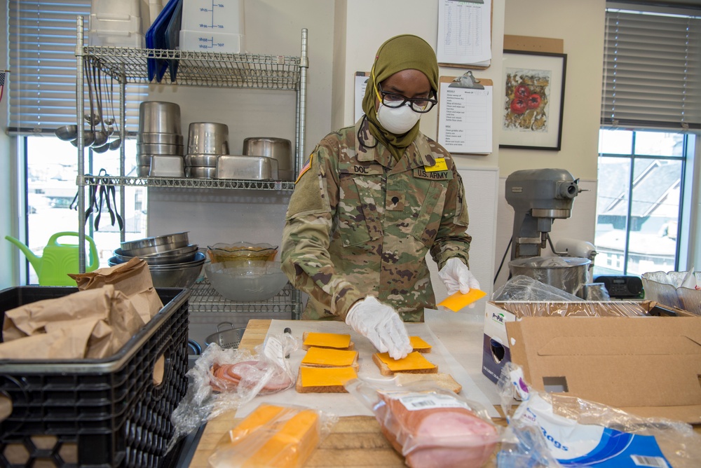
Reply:
[[700, 15], [621, 7], [606, 10], [601, 125], [701, 128]]

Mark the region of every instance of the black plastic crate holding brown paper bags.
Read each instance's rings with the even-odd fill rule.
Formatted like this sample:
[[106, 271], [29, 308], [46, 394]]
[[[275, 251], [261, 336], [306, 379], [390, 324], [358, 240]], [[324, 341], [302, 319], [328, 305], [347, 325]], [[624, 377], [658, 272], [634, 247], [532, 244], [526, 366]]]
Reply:
[[[74, 287], [0, 291], [12, 308], [71, 294]], [[0, 359], [0, 466], [160, 467], [174, 434], [170, 414], [187, 388], [189, 289], [158, 289], [165, 304], [107, 359]], [[154, 383], [156, 362], [161, 383]], [[1, 411], [1, 409], [0, 409]], [[0, 419], [4, 414], [0, 413]]]

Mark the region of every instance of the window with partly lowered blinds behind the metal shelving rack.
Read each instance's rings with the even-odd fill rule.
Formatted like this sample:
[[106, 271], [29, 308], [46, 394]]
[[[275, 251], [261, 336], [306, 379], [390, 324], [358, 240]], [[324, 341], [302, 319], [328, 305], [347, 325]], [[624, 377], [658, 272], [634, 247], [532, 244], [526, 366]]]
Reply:
[[[70, 142], [55, 137], [55, 130], [76, 124], [76, 17], [82, 15], [87, 24], [90, 4], [90, 0], [10, 0], [6, 3], [9, 63], [13, 71], [8, 81], [8, 130], [17, 141], [18, 167], [22, 168], [18, 172], [25, 175], [25, 180], [18, 184], [20, 207], [25, 210], [19, 216], [24, 220], [19, 238], [39, 256], [53, 233], [76, 232], [79, 228], [78, 212], [71, 207], [77, 191], [78, 153]], [[89, 95], [87, 87], [84, 88], [88, 105]], [[118, 104], [118, 85], [103, 81], [102, 92], [105, 104], [102, 116], [112, 117], [112, 109], [118, 111], [118, 105], [110, 106], [109, 102], [114, 100]], [[138, 124], [139, 102], [146, 99], [147, 86], [130, 84], [126, 94], [125, 129], [133, 135]], [[123, 144], [125, 175], [135, 175], [135, 140], [127, 139]], [[90, 155], [86, 149], [86, 161], [86, 173], [97, 174], [104, 168], [108, 174], [119, 174], [118, 150]], [[146, 235], [147, 190], [126, 187], [124, 193], [125, 212], [120, 215], [125, 222], [125, 236], [143, 238]], [[100, 218], [97, 230], [95, 217], [88, 219], [86, 234], [95, 240], [100, 266], [107, 266], [111, 250], [119, 245], [120, 233], [116, 223], [111, 226], [106, 207]], [[28, 265], [24, 258], [20, 256], [22, 263]], [[20, 281], [36, 283], [34, 268], [23, 270], [26, 274]]]

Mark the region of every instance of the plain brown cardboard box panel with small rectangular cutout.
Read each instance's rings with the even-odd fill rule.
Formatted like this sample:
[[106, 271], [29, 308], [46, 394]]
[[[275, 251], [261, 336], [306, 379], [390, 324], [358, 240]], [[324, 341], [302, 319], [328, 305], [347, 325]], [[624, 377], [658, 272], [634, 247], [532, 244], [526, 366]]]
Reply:
[[699, 317], [524, 317], [506, 330], [537, 390], [701, 423]]

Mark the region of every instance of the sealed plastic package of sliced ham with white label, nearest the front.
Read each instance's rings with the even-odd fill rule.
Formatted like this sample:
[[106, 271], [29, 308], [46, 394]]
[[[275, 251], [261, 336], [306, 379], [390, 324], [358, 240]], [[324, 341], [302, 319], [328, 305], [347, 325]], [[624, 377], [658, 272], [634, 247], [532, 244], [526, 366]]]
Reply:
[[431, 383], [353, 379], [345, 387], [372, 410], [409, 467], [479, 467], [499, 441], [499, 428], [479, 403]]

